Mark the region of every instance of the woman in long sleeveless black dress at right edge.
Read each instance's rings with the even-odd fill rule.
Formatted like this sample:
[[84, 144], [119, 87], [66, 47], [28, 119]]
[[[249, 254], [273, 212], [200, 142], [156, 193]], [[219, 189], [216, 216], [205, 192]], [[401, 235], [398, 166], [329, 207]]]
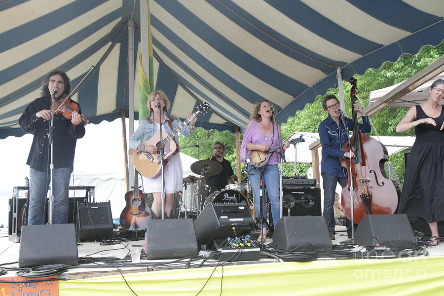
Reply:
[[444, 221], [444, 80], [429, 87], [426, 102], [407, 111], [398, 133], [414, 127], [416, 140], [408, 156], [398, 213], [422, 218], [432, 231], [430, 245], [439, 244], [438, 221]]

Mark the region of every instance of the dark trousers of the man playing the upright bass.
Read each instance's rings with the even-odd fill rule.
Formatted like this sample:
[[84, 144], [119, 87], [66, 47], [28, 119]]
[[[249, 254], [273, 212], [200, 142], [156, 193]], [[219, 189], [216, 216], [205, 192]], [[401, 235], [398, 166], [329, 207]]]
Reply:
[[348, 183], [348, 177], [336, 177], [327, 173], [321, 173], [322, 187], [324, 187], [324, 220], [329, 232], [334, 233], [334, 193], [336, 193], [336, 183], [344, 188]]

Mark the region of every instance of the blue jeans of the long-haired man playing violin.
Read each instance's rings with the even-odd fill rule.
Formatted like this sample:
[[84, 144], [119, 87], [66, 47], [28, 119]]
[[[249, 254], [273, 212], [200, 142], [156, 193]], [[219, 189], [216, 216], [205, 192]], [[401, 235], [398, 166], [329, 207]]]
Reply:
[[[54, 169], [54, 186], [51, 185], [54, 190], [54, 224], [68, 222], [68, 190], [72, 172], [72, 168]], [[49, 171], [41, 172], [35, 169], [30, 169], [29, 175], [28, 225], [40, 225], [44, 222], [46, 194], [51, 175]]]

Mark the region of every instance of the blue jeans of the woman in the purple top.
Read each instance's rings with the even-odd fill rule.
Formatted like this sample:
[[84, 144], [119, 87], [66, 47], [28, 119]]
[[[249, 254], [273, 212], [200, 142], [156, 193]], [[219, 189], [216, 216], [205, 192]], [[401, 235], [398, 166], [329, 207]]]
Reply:
[[[248, 180], [251, 183], [253, 189], [253, 195], [255, 197], [255, 211], [256, 217], [259, 217], [260, 213], [260, 172], [257, 169], [252, 169], [250, 165], [247, 165]], [[253, 174], [253, 175], [250, 175]], [[276, 227], [277, 222], [281, 218], [280, 200], [279, 200], [279, 167], [277, 164], [266, 165], [262, 170], [262, 180], [267, 186], [268, 199], [271, 203], [271, 214], [273, 215], [273, 225]], [[264, 195], [264, 193], [262, 193]], [[267, 209], [264, 206], [265, 196], [262, 196], [262, 217], [264, 220], [267, 219]], [[262, 228], [266, 227], [262, 224]]]

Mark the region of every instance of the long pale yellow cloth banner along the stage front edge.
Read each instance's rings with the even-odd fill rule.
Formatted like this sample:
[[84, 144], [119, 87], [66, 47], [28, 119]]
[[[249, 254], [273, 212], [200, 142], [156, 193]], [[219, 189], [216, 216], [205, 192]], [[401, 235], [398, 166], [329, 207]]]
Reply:
[[139, 296], [442, 295], [443, 275], [444, 257], [317, 260], [124, 274], [128, 285], [121, 275], [73, 280], [60, 282], [59, 294], [133, 295], [131, 287]]

